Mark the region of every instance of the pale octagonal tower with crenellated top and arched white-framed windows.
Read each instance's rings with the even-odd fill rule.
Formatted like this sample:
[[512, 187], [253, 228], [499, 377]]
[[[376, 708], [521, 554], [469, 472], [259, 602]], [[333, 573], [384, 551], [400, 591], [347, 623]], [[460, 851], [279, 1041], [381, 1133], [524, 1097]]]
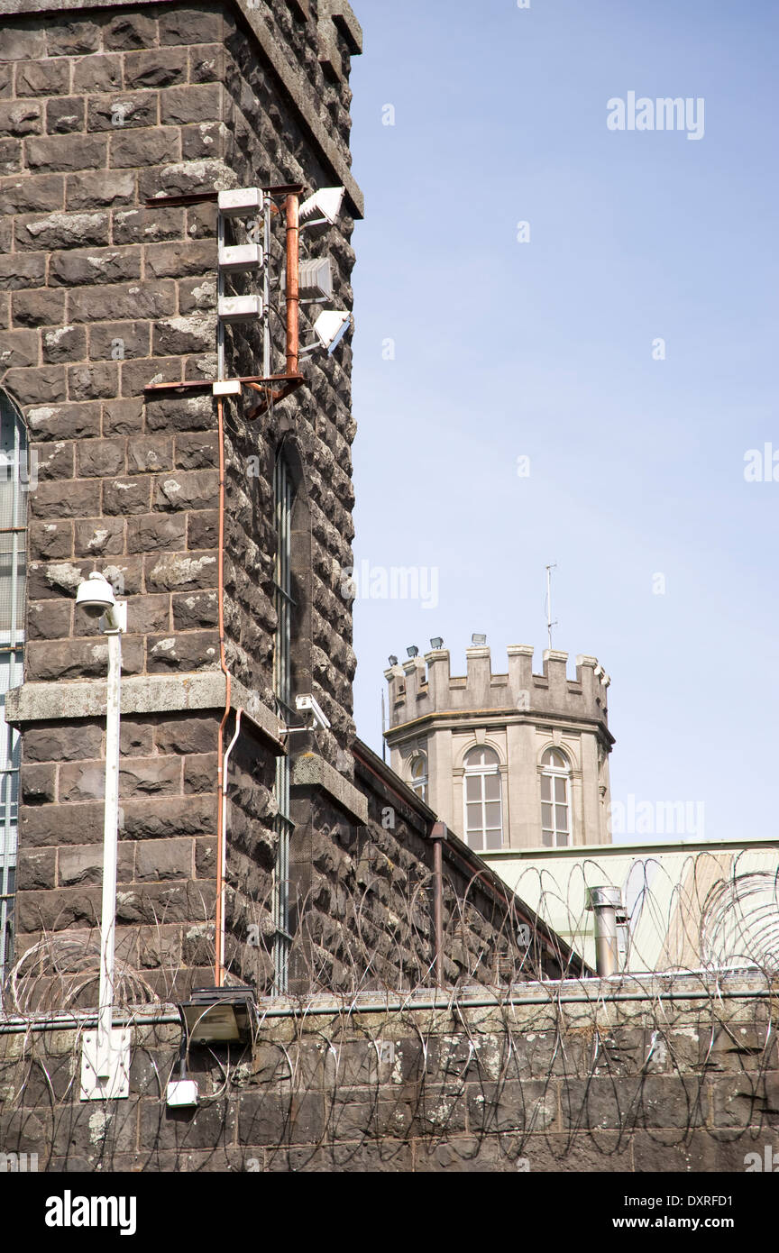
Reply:
[[511, 644], [493, 674], [490, 648], [447, 649], [384, 672], [393, 769], [478, 852], [609, 843], [609, 675], [595, 657]]

